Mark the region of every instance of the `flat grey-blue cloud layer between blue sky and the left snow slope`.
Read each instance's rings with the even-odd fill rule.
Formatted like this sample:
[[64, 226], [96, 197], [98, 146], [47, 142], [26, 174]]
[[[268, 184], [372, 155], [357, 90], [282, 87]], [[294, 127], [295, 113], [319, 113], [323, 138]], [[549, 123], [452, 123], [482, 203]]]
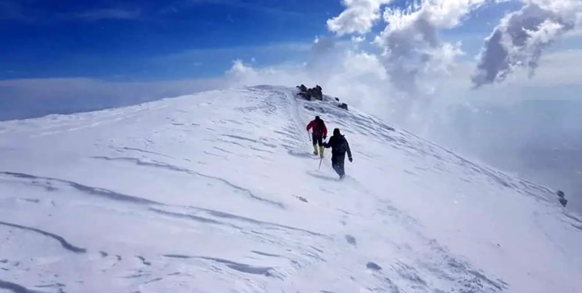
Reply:
[[0, 81], [0, 121], [123, 107], [225, 86], [223, 79], [107, 82], [88, 78]]

